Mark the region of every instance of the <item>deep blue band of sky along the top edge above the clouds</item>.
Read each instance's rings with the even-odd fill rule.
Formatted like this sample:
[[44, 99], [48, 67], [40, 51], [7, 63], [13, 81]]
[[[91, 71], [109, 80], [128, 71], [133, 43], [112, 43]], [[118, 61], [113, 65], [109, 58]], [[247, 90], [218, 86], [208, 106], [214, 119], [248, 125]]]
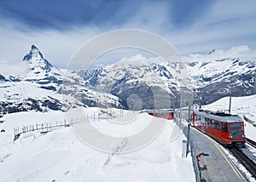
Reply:
[[[119, 1], [119, 0], [66, 0], [32, 1], [12, 0], [0, 3], [3, 17], [19, 20], [32, 29], [57, 29], [67, 31], [72, 26], [124, 26], [140, 12], [142, 23], [149, 23], [154, 14], [164, 8], [166, 28], [188, 26], [206, 12], [212, 2], [182, 1]], [[158, 9], [154, 9], [155, 8]], [[151, 9], [152, 7], [152, 9]], [[148, 9], [148, 12], [147, 12]], [[150, 11], [152, 10], [152, 12]]]

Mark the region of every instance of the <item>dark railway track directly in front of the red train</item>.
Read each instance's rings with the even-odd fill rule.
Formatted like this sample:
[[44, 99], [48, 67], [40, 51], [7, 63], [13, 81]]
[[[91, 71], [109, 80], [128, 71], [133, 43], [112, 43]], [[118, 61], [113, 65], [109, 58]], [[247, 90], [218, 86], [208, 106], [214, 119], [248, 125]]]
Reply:
[[230, 148], [230, 152], [236, 156], [237, 160], [241, 162], [241, 164], [247, 168], [248, 172], [252, 174], [253, 178], [256, 179], [256, 163], [236, 147]]

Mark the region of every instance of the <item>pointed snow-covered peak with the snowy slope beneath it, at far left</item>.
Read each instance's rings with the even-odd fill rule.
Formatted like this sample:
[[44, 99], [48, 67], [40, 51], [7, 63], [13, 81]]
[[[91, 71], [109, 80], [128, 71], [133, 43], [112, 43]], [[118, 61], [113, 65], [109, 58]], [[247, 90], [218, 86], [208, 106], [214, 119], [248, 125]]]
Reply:
[[20, 65], [21, 74], [1, 78], [1, 112], [67, 111], [72, 106], [62, 102], [61, 94], [57, 93], [61, 87], [61, 71], [44, 60], [36, 46], [32, 45]]

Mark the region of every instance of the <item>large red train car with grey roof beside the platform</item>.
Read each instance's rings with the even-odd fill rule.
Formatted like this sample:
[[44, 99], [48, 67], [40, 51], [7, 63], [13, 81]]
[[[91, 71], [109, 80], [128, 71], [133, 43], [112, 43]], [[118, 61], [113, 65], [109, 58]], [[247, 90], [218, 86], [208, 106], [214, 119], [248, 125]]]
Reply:
[[244, 145], [244, 122], [237, 115], [224, 112], [193, 111], [192, 126], [223, 145]]

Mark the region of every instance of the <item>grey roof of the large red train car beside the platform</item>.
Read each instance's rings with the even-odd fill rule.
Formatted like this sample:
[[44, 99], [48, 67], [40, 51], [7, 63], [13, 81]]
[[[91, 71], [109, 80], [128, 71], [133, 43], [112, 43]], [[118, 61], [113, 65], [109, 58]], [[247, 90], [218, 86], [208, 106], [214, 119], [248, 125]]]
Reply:
[[231, 115], [225, 112], [215, 112], [215, 111], [195, 111], [195, 114], [201, 115], [203, 117], [208, 117], [221, 122], [241, 122], [242, 118], [238, 115]]

